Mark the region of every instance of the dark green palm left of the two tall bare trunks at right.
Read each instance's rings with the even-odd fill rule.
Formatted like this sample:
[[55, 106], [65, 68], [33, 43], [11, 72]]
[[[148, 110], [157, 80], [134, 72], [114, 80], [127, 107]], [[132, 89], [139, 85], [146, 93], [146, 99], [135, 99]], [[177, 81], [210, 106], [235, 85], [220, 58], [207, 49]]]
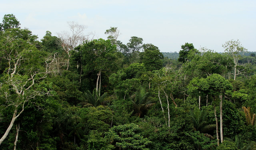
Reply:
[[194, 130], [204, 133], [204, 136], [213, 139], [214, 137], [207, 132], [214, 130], [216, 128], [216, 124], [208, 124], [206, 122], [206, 112], [204, 109], [200, 110], [197, 108], [196, 111], [190, 110], [190, 114], [192, 123], [194, 124]]

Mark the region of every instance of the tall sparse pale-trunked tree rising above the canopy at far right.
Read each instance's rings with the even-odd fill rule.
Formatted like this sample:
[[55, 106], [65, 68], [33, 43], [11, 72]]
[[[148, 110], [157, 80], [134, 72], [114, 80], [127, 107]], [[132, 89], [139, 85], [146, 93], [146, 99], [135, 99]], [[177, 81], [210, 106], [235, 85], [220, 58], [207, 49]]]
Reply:
[[222, 44], [222, 47], [225, 48], [225, 52], [230, 54], [234, 60], [234, 80], [236, 80], [236, 76], [242, 74], [242, 71], [237, 70], [238, 68], [238, 60], [244, 52], [247, 52], [247, 49], [242, 46], [239, 40], [230, 40], [225, 44]]

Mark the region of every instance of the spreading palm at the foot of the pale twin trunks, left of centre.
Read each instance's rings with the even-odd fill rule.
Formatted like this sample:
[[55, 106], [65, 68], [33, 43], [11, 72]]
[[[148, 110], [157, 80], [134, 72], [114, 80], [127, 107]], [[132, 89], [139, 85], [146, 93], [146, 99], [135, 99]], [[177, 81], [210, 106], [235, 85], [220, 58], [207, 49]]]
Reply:
[[86, 100], [84, 102], [81, 102], [80, 104], [84, 107], [88, 107], [88, 106], [99, 106], [99, 105], [106, 105], [106, 101], [104, 101], [104, 99], [106, 98], [106, 96], [108, 95], [108, 93], [104, 93], [102, 95], [100, 95], [99, 92], [97, 92], [96, 88], [94, 88], [94, 90], [92, 91], [92, 93], [87, 90], [87, 92], [85, 93], [85, 98]]

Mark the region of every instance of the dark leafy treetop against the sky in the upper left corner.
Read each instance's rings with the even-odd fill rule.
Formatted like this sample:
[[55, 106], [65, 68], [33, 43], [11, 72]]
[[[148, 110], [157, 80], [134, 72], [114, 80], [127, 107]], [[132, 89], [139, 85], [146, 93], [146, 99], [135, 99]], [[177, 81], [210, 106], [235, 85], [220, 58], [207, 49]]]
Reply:
[[0, 31], [12, 28], [20, 28], [20, 22], [13, 14], [5, 14], [2, 22], [3, 23], [0, 24]]

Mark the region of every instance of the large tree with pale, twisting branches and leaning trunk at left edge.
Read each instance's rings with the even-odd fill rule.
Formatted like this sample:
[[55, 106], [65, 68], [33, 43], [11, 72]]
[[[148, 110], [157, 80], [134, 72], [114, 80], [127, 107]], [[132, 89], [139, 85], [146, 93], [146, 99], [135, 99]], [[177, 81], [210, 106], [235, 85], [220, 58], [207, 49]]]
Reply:
[[0, 139], [0, 144], [9, 134], [14, 121], [24, 111], [27, 102], [37, 96], [50, 94], [47, 88], [38, 86], [46, 78], [48, 66], [43, 66], [44, 53], [30, 41], [33, 38], [30, 32], [16, 28], [6, 30], [0, 37], [0, 57], [8, 62], [0, 78], [0, 96], [2, 105], [13, 110], [12, 120]]

